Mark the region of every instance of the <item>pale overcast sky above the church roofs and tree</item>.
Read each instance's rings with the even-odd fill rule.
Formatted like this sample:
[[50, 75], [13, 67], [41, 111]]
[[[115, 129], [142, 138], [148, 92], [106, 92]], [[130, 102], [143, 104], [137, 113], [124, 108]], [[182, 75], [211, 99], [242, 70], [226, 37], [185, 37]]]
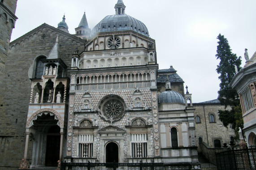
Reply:
[[[216, 99], [219, 90], [217, 36], [228, 39], [233, 53], [251, 58], [256, 51], [256, 0], [123, 0], [126, 14], [142, 21], [156, 40], [160, 69], [172, 65], [193, 102]], [[75, 34], [86, 12], [89, 28], [115, 14], [117, 0], [18, 0], [11, 41], [47, 23], [57, 27], [65, 13]], [[185, 89], [186, 90], [186, 89]]]

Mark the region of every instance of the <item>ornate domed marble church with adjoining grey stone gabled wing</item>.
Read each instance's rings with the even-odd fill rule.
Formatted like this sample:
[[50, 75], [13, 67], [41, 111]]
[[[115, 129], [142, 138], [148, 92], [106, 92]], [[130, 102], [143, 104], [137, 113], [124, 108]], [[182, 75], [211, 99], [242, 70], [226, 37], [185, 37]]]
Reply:
[[13, 133], [26, 130], [20, 168], [154, 161], [200, 169], [191, 93], [172, 66], [158, 68], [143, 22], [122, 0], [113, 6], [93, 29], [84, 13], [69, 34], [64, 16], [57, 28], [44, 23], [10, 43], [4, 83], [16, 83], [4, 100], [13, 103], [5, 106]]

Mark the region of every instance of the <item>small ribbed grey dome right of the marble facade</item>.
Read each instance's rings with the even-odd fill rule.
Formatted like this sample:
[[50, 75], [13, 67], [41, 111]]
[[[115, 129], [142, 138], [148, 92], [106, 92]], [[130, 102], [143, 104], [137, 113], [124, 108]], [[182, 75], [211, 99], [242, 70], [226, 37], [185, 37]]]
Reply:
[[166, 90], [159, 94], [158, 96], [158, 104], [161, 103], [182, 103], [185, 104], [185, 99], [183, 96], [175, 91], [172, 90]]

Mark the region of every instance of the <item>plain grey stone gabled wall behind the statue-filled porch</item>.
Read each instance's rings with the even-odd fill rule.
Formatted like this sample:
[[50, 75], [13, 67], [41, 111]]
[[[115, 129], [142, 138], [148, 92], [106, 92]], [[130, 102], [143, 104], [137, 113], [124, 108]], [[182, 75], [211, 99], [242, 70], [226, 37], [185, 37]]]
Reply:
[[[47, 56], [50, 53], [57, 35], [59, 35], [61, 57], [70, 68], [71, 55], [76, 44], [79, 52], [82, 52], [85, 41], [47, 24], [10, 43], [5, 64], [6, 73], [3, 75], [3, 85], [0, 85], [0, 92], [3, 95], [0, 98], [1, 170], [17, 169], [24, 156], [25, 127], [31, 91], [30, 78], [33, 75], [31, 72], [33, 73], [36, 57]], [[30, 137], [28, 161], [32, 157], [32, 144], [33, 138]]]

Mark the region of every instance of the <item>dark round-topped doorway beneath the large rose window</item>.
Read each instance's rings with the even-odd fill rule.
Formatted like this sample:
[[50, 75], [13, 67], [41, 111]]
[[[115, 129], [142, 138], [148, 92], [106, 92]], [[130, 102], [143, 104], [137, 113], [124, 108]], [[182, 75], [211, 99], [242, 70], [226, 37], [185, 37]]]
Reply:
[[114, 142], [109, 142], [106, 145], [106, 163], [119, 162], [118, 145]]

